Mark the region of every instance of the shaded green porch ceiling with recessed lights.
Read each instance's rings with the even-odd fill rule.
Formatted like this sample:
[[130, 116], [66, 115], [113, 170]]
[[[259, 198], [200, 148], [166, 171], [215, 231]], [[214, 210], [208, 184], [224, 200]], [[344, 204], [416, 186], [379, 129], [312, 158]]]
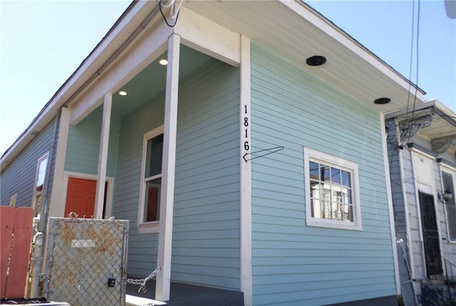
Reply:
[[[121, 117], [128, 114], [128, 112], [131, 112], [142, 103], [165, 91], [167, 66], [158, 63], [163, 58], [167, 58], [167, 52], [159, 56], [150, 65], [147, 65], [138, 75], [135, 75], [134, 78], [120, 88], [127, 95], [119, 95], [119, 92], [113, 93], [113, 115]], [[209, 60], [211, 60], [210, 56], [181, 45], [179, 78], [187, 77], [187, 75], [190, 75], [190, 73]]]

